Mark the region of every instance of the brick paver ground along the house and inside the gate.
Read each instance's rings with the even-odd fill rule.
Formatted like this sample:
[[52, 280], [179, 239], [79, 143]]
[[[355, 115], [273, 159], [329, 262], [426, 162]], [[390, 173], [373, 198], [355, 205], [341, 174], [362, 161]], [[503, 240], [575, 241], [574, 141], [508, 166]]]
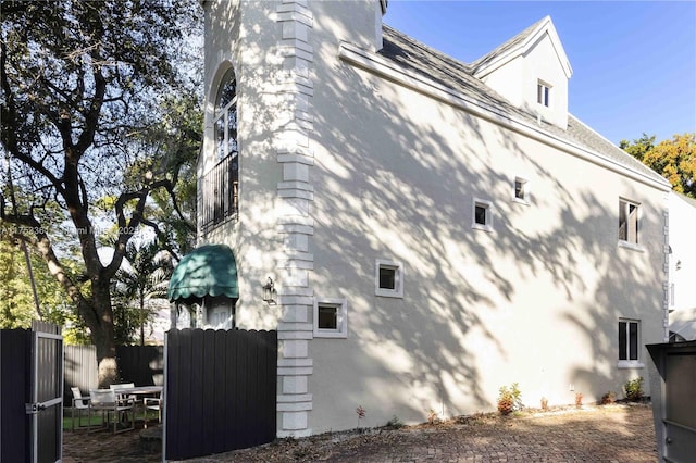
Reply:
[[[65, 433], [63, 462], [157, 462], [138, 433]], [[443, 425], [284, 439], [187, 461], [213, 462], [656, 462], [649, 405], [588, 406], [517, 417], [467, 417]]]

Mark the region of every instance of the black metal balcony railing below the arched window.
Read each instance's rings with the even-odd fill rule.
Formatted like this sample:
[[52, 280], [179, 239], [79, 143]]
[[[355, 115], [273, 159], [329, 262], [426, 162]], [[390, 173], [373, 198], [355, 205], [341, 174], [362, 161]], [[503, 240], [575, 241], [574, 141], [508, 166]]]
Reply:
[[222, 159], [203, 176], [203, 232], [236, 217], [238, 212], [239, 164], [237, 153]]

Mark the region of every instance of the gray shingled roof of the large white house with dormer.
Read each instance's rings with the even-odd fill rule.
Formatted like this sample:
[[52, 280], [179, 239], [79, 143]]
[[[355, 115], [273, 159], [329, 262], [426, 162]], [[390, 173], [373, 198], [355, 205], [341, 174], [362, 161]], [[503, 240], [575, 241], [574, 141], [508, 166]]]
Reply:
[[[542, 21], [545, 21], [545, 18]], [[535, 23], [527, 27], [521, 34], [508, 40], [498, 49], [486, 54], [473, 64], [467, 64], [440, 53], [439, 51], [419, 42], [393, 27], [384, 25], [384, 47], [380, 51], [380, 54], [401, 67], [410, 72], [421, 74], [444, 87], [450, 88], [465, 96], [467, 98], [488, 104], [514, 118], [520, 118], [537, 126], [538, 122], [536, 114], [532, 114], [531, 112], [526, 112], [511, 104], [498, 92], [493, 90], [478, 78], [474, 77], [473, 74], [475, 71], [474, 66], [481, 65], [483, 62], [482, 60], [493, 59], [492, 57], [497, 57], [501, 52], [505, 52], [505, 50], [521, 43], [526, 36], [531, 34], [536, 26], [538, 26], [538, 24], [539, 23]], [[542, 122], [540, 128], [558, 138], [600, 153], [620, 165], [639, 172], [655, 180], [666, 183], [664, 178], [655, 171], [650, 170], [631, 154], [611, 143], [571, 114], [568, 115], [567, 130], [547, 122]]]

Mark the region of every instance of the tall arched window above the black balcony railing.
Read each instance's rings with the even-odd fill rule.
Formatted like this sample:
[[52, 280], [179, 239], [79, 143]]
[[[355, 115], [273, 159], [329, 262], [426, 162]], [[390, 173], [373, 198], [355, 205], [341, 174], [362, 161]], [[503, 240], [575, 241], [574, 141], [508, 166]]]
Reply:
[[215, 152], [217, 159], [237, 155], [237, 79], [227, 70], [222, 77], [215, 98]]

